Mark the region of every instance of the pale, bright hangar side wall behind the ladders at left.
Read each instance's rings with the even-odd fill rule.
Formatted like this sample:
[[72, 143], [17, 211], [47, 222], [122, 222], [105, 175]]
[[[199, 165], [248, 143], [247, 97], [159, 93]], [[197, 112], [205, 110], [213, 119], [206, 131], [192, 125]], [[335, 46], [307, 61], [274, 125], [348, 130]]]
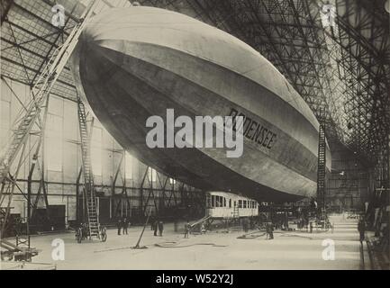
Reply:
[[[2, 78], [0, 149], [5, 147], [12, 123], [23, 107], [20, 102], [24, 103], [28, 97], [29, 87], [27, 85]], [[26, 217], [27, 211], [27, 201], [23, 193], [27, 193], [27, 179], [36, 139], [37, 136], [31, 136], [27, 143], [27, 157], [18, 175], [18, 188], [12, 204], [14, 207], [12, 213], [21, 214], [23, 218]], [[43, 160], [49, 204], [65, 205], [66, 220], [76, 220], [77, 176], [81, 166], [76, 102], [54, 94], [50, 95], [44, 139], [42, 144], [44, 153], [40, 153], [38, 163], [42, 166]], [[43, 159], [42, 155], [44, 155]], [[96, 193], [99, 196], [101, 207], [105, 207], [101, 212], [105, 214], [107, 220], [108, 218], [113, 220], [118, 214], [132, 215], [133, 211], [151, 209], [151, 213], [156, 214], [160, 209], [175, 209], [175, 207], [185, 205], [188, 197], [191, 197], [193, 202], [196, 200], [202, 202], [200, 191], [169, 179], [151, 168], [146, 172], [148, 166], [129, 153], [125, 153], [121, 161], [122, 147], [96, 119], [91, 140], [91, 156]], [[35, 169], [32, 176], [32, 198], [36, 197], [39, 190], [41, 179], [39, 170]], [[113, 179], [117, 171], [119, 173], [113, 188]], [[127, 197], [124, 188], [126, 188]], [[123, 202], [121, 202], [122, 198]], [[38, 207], [45, 207], [43, 197], [39, 197]]]

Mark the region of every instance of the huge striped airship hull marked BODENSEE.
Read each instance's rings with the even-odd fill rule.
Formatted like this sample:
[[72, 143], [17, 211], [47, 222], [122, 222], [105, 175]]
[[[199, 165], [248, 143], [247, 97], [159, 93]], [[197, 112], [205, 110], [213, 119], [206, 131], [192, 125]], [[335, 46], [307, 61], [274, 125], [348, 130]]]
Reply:
[[[185, 14], [112, 8], [86, 24], [71, 58], [77, 92], [123, 148], [204, 191], [262, 202], [315, 197], [319, 122], [257, 50]], [[150, 116], [244, 119], [243, 151], [150, 148]], [[327, 168], [331, 153], [326, 148]]]

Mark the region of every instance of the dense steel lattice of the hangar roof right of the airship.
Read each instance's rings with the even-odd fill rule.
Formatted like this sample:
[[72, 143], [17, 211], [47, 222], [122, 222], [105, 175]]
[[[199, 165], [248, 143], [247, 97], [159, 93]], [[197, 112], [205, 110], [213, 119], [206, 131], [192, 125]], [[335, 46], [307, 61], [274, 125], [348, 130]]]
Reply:
[[[187, 2], [204, 14], [203, 19], [246, 41], [273, 62], [313, 112], [328, 107], [328, 137], [342, 140], [375, 162], [372, 147], [385, 139], [390, 123], [386, 108], [390, 101], [389, 25], [383, 7], [376, 7], [380, 1], [374, 5], [336, 1], [338, 34], [322, 27], [325, 1]], [[353, 15], [358, 16], [352, 24]], [[338, 45], [339, 58], [331, 55], [327, 39]], [[337, 63], [339, 75], [330, 75], [330, 61]], [[335, 85], [335, 78], [342, 85]], [[377, 100], [379, 106], [374, 105]], [[344, 107], [349, 109], [344, 111]], [[346, 129], [345, 123], [354, 128]]]

